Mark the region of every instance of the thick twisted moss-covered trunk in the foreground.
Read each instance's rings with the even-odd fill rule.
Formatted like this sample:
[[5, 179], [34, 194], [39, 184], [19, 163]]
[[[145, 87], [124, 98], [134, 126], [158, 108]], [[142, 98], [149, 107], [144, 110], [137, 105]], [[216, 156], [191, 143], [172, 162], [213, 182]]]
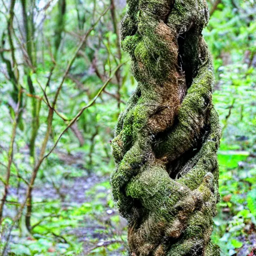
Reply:
[[219, 255], [220, 128], [201, 35], [204, 0], [127, 0], [122, 48], [138, 81], [112, 140], [113, 197], [128, 220], [130, 255]]

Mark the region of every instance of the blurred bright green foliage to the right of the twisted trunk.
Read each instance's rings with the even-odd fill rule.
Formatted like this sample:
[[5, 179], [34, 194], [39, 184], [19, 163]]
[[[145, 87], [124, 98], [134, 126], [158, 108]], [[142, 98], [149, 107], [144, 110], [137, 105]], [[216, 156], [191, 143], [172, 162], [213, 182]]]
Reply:
[[244, 241], [255, 222], [255, 6], [236, 3], [238, 8], [229, 1], [219, 4], [204, 30], [216, 70], [213, 101], [223, 127], [218, 154], [221, 201], [213, 234], [223, 255], [250, 252], [252, 243]]

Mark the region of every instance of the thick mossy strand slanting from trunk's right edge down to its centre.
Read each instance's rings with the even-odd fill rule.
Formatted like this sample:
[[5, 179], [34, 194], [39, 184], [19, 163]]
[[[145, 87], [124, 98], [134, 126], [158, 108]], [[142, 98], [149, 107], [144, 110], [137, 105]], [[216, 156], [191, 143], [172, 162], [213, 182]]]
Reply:
[[[199, 138], [208, 115], [211, 101], [213, 74], [209, 69], [211, 60], [205, 64], [187, 90], [186, 96], [178, 110], [178, 124], [164, 141], [156, 143], [156, 154], [165, 155], [170, 160], [184, 151], [196, 146], [194, 137]], [[196, 121], [195, 121], [196, 120]], [[187, 141], [185, 144], [182, 141]]]

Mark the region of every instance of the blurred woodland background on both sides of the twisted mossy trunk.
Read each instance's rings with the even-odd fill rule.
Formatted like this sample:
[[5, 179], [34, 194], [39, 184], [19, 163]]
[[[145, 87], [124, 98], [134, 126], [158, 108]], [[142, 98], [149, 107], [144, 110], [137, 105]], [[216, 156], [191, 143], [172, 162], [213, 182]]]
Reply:
[[[256, 2], [208, 0], [221, 255], [256, 255]], [[109, 175], [136, 87], [125, 0], [0, 0], [0, 255], [127, 255]]]

